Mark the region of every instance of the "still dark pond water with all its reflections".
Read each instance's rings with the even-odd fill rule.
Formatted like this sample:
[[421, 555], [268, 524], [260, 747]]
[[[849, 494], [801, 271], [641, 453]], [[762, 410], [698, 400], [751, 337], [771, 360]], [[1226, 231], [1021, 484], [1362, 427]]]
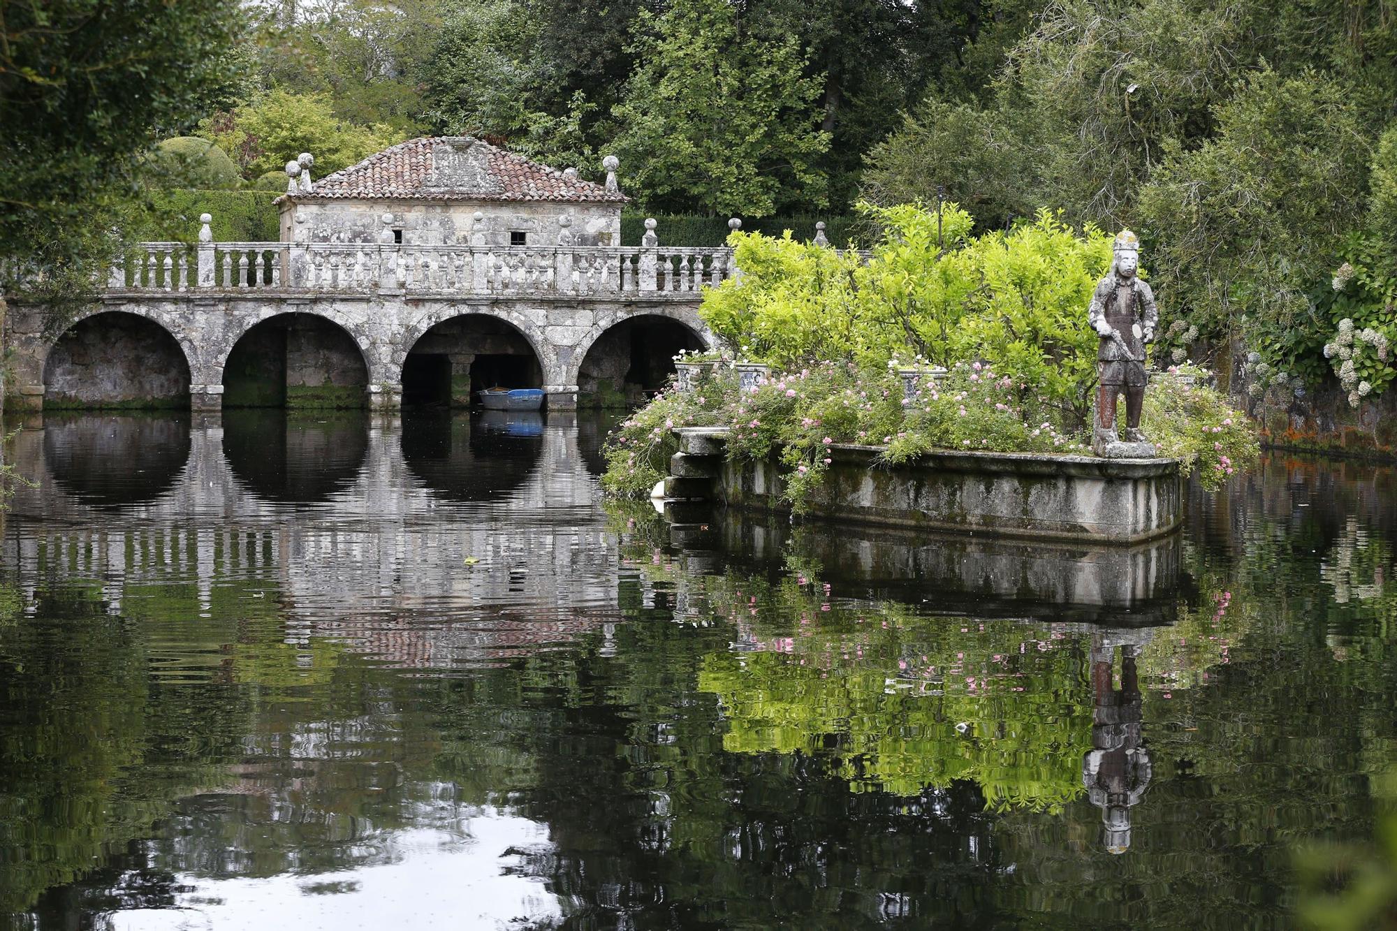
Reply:
[[1390, 876], [1393, 471], [1091, 552], [671, 526], [604, 432], [15, 433], [0, 927], [1231, 931]]

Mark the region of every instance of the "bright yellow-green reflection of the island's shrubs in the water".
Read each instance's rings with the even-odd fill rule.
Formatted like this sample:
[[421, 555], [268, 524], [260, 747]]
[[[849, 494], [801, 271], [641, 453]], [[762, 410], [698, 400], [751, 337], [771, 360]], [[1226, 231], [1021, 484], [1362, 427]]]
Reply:
[[1080, 658], [1051, 633], [996, 623], [967, 637], [961, 618], [893, 604], [873, 622], [800, 573], [714, 577], [707, 597], [750, 644], [707, 656], [698, 672], [728, 724], [724, 749], [817, 755], [834, 737], [854, 791], [974, 780], [989, 808], [1051, 811], [1081, 794], [1091, 695]]

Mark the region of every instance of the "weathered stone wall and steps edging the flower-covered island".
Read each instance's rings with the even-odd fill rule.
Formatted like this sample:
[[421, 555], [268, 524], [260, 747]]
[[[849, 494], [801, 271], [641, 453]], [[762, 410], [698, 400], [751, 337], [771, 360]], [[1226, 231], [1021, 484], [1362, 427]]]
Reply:
[[[666, 496], [789, 510], [785, 467], [726, 459], [726, 429], [679, 428]], [[1006, 538], [1136, 544], [1182, 523], [1179, 463], [1039, 453], [932, 452], [882, 466], [876, 446], [834, 445], [810, 517]]]

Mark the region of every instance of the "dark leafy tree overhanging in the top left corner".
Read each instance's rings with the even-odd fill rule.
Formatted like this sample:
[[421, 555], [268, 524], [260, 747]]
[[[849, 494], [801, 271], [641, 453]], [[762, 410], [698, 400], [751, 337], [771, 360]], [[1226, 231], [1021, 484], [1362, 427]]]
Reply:
[[161, 130], [218, 84], [215, 0], [0, 0], [0, 261], [81, 289]]

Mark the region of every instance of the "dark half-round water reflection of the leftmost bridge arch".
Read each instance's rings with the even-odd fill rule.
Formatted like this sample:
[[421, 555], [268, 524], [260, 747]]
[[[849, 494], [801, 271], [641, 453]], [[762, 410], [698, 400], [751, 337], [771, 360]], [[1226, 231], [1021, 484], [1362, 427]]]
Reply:
[[99, 509], [166, 493], [190, 450], [187, 414], [47, 415], [43, 452], [53, 479]]

